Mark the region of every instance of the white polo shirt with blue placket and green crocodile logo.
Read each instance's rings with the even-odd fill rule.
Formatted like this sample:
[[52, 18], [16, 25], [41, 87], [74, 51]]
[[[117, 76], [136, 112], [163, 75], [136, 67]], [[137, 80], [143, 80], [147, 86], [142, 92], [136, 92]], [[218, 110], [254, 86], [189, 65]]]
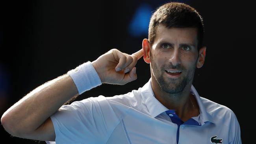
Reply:
[[241, 144], [236, 115], [191, 92], [200, 114], [186, 122], [155, 98], [151, 79], [127, 94], [63, 105], [51, 116], [56, 144]]

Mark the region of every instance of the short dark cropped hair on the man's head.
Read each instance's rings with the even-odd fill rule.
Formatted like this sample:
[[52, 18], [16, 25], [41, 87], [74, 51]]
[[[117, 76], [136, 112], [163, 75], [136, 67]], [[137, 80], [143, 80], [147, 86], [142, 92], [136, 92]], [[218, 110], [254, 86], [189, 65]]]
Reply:
[[159, 25], [167, 28], [197, 28], [198, 50], [202, 47], [204, 24], [202, 17], [191, 6], [170, 2], [158, 7], [150, 18], [148, 41], [153, 44]]

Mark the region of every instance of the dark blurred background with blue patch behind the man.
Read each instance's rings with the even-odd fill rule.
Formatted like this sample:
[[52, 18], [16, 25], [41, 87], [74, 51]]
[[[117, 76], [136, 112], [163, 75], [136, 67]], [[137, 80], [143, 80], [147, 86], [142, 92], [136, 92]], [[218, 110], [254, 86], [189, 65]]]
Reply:
[[[139, 50], [143, 38], [148, 38], [150, 15], [166, 2], [169, 1], [1, 2], [0, 116], [39, 85], [86, 61], [94, 61], [112, 48], [128, 54]], [[178, 2], [194, 7], [204, 19], [206, 62], [197, 70], [193, 85], [200, 96], [234, 111], [241, 126], [242, 142], [249, 144], [254, 137], [254, 126], [247, 116], [253, 116], [255, 110], [255, 7], [245, 0]], [[122, 86], [104, 84], [77, 100], [114, 96], [142, 87], [150, 78], [149, 65], [140, 59], [136, 67], [136, 81]], [[8, 144], [39, 143], [11, 137], [2, 126], [0, 135]]]

